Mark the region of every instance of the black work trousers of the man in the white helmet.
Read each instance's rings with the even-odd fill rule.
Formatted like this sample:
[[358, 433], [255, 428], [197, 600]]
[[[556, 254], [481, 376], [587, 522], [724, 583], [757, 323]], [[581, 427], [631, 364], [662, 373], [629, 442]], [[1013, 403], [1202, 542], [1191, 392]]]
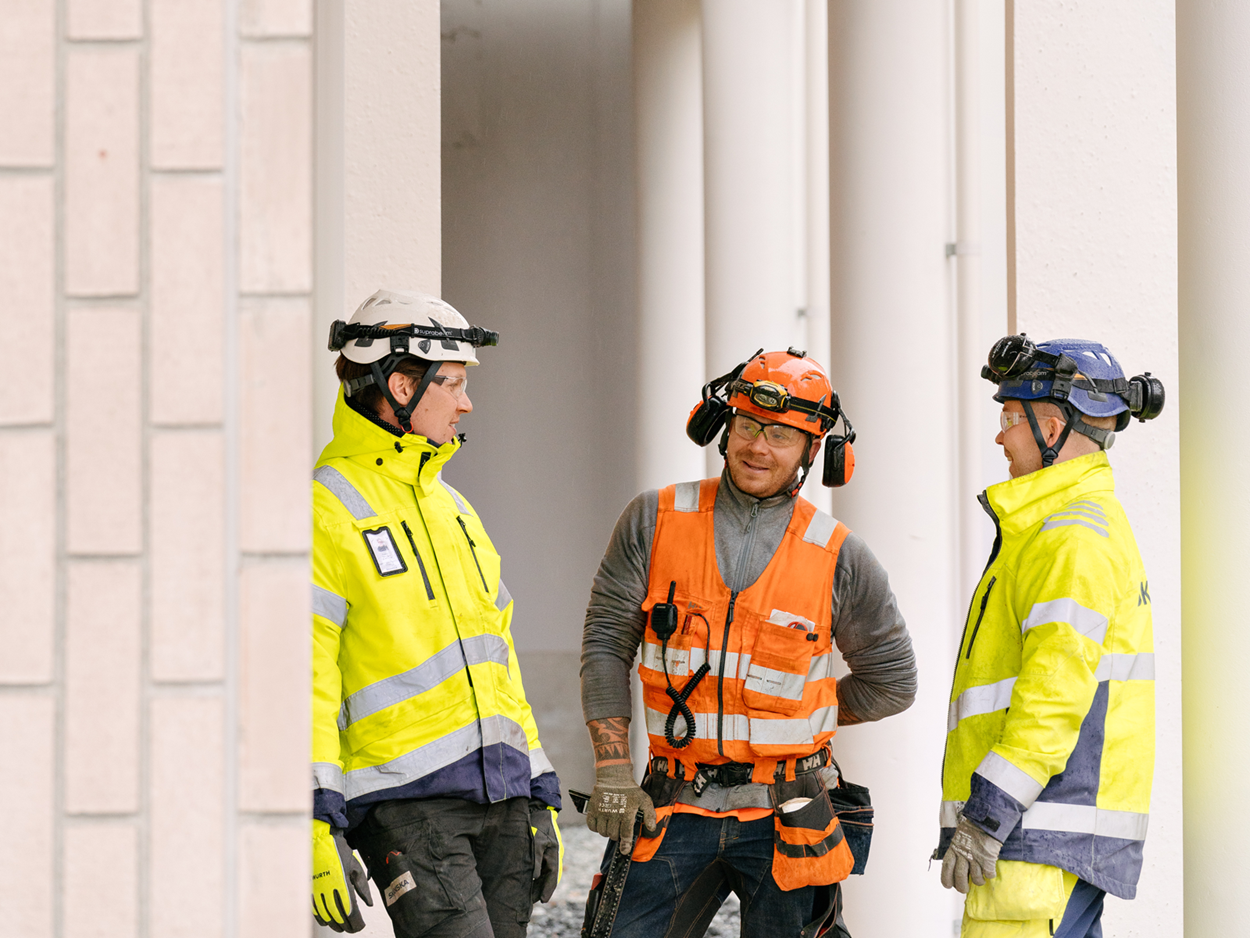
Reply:
[[524, 938], [534, 907], [528, 798], [380, 802], [348, 842], [395, 938]]

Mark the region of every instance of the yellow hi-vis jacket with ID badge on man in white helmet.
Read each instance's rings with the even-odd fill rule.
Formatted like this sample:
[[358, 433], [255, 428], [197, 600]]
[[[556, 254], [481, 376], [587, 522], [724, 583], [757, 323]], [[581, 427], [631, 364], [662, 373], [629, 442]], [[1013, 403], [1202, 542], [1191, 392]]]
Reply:
[[395, 798], [560, 807], [499, 554], [442, 482], [459, 445], [395, 436], [340, 391], [312, 474], [314, 815], [335, 827]]

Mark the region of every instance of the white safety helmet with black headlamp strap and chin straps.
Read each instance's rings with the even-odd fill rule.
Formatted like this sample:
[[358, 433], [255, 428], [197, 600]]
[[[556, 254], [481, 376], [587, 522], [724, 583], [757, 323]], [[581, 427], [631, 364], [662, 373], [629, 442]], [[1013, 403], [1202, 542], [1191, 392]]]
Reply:
[[[411, 416], [421, 395], [438, 375], [442, 361], [478, 364], [476, 349], [498, 345], [499, 333], [469, 325], [449, 303], [438, 296], [414, 290], [378, 290], [361, 303], [344, 323], [330, 324], [330, 351], [340, 351], [349, 361], [369, 365], [369, 374], [344, 381], [344, 393], [351, 396], [366, 385], [374, 385], [390, 404], [400, 429], [412, 431]], [[400, 404], [388, 388], [386, 379], [405, 358], [429, 363], [410, 400]]]

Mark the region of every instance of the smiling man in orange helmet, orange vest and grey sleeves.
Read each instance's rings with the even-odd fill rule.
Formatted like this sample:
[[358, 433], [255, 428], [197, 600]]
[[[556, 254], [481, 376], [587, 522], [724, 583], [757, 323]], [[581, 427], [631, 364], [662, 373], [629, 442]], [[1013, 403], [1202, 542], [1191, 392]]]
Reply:
[[[719, 438], [720, 478], [635, 498], [586, 610], [586, 819], [611, 840], [588, 933], [701, 934], [735, 892], [745, 938], [798, 935], [814, 922], [835, 934], [836, 883], [862, 870], [866, 844], [850, 843], [834, 813], [829, 789], [841, 798], [851, 785], [832, 738], [906, 709], [916, 689], [885, 570], [798, 494], [822, 446], [825, 484], [850, 479], [854, 430], [825, 369], [789, 349], [709, 381], [686, 433], [699, 445]], [[641, 785], [628, 737], [640, 645]], [[841, 658], [851, 673], [838, 680]]]

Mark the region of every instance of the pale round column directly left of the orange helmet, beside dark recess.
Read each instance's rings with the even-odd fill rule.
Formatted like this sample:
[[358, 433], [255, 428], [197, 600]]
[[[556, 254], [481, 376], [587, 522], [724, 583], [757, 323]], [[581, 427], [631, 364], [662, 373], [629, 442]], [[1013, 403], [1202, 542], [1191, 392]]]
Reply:
[[634, 0], [640, 489], [704, 473], [685, 433], [706, 380], [700, 29], [699, 0]]

